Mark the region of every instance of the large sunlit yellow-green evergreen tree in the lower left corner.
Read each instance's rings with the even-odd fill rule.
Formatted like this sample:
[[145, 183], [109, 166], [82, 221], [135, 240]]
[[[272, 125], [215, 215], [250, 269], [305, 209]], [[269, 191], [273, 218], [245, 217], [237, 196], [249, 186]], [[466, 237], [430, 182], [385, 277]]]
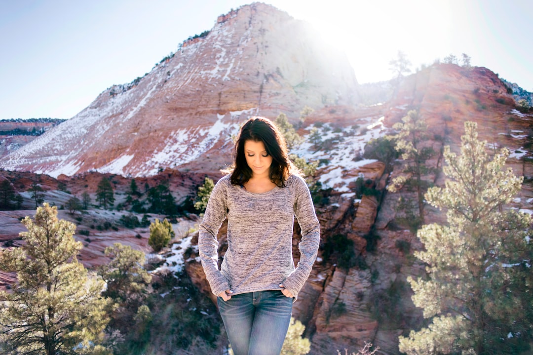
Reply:
[[38, 207], [26, 217], [25, 243], [5, 249], [4, 271], [16, 272], [11, 292], [0, 292], [0, 352], [3, 354], [102, 353], [102, 332], [109, 304], [104, 283], [87, 275], [76, 260], [82, 243], [72, 237], [73, 223], [58, 220], [57, 208]]

